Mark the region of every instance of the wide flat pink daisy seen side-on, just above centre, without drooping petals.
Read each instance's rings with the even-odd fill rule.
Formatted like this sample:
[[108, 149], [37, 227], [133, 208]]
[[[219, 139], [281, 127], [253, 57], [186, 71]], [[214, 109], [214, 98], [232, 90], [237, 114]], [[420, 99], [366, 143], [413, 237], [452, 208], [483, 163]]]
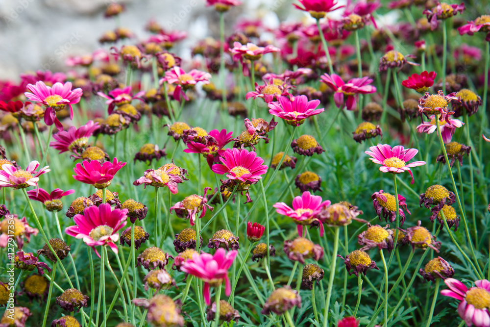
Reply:
[[287, 124], [292, 126], [300, 126], [306, 118], [318, 115], [325, 110], [323, 108], [316, 109], [320, 101], [308, 101], [306, 96], [279, 97], [278, 100], [279, 102], [269, 103], [269, 113], [284, 119]]

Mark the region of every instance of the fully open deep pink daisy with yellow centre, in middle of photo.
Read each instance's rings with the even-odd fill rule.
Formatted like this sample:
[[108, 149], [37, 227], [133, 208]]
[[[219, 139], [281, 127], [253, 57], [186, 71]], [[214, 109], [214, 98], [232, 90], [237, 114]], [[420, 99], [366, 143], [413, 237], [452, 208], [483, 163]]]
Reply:
[[248, 193], [248, 186], [257, 183], [267, 172], [268, 167], [263, 165], [264, 159], [257, 156], [254, 151], [239, 150], [236, 148], [226, 149], [220, 157], [221, 164], [215, 164], [211, 170], [216, 174], [226, 174], [227, 180], [222, 181], [221, 188], [233, 190], [238, 185], [237, 190], [246, 191], [247, 202], [251, 202]]

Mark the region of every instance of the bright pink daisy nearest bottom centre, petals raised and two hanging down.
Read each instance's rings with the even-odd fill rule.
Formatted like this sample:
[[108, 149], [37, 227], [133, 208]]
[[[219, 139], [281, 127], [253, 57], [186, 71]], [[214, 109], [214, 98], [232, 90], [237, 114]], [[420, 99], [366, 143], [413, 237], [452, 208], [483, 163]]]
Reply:
[[206, 305], [211, 304], [211, 295], [209, 293], [209, 284], [213, 286], [225, 282], [226, 296], [231, 294], [230, 280], [228, 279], [228, 269], [233, 264], [233, 260], [238, 252], [233, 250], [228, 253], [222, 248], [218, 249], [215, 255], [209, 253], [194, 253], [191, 260], [187, 260], [181, 267], [184, 273], [196, 276], [204, 281], [202, 295]]

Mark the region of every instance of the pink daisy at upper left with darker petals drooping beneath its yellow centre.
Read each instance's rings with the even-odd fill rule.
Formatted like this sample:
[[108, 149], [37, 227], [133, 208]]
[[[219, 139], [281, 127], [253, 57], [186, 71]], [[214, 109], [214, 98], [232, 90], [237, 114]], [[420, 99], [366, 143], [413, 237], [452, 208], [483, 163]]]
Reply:
[[72, 91], [72, 83], [66, 82], [54, 83], [52, 87], [47, 86], [43, 81], [36, 82], [36, 85], [29, 84], [27, 89], [30, 92], [25, 92], [24, 95], [30, 101], [43, 103], [47, 109], [44, 113], [44, 122], [46, 125], [56, 125], [59, 130], [63, 130], [63, 125], [56, 117], [56, 111], [63, 109], [66, 105], [70, 106], [70, 119], [73, 119], [72, 104], [78, 103], [82, 97], [83, 91], [76, 88]]

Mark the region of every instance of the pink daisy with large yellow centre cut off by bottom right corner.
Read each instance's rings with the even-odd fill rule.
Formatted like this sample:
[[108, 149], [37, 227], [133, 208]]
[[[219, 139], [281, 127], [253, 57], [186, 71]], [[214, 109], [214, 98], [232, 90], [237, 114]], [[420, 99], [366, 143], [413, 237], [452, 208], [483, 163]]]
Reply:
[[468, 289], [465, 284], [454, 278], [444, 279], [448, 290], [442, 290], [441, 295], [461, 301], [458, 313], [466, 322], [466, 326], [490, 326], [490, 282], [487, 279], [475, 281], [476, 287]]

